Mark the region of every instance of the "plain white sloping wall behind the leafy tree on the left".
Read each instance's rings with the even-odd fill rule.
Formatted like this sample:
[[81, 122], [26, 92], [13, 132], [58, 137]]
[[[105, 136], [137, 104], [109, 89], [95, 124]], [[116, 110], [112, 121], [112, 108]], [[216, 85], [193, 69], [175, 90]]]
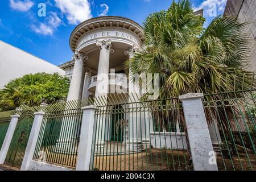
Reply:
[[56, 65], [0, 40], [0, 88], [3, 88], [3, 86], [14, 78], [38, 72], [65, 74]]

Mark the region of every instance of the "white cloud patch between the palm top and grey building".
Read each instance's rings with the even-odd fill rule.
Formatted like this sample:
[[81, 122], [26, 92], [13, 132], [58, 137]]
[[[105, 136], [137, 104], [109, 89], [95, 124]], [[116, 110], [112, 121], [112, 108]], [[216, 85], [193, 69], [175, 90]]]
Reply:
[[200, 6], [195, 7], [195, 11], [204, 9], [205, 13], [208, 13], [209, 10], [213, 8], [218, 9], [218, 11], [224, 11], [227, 0], [205, 0], [201, 3]]

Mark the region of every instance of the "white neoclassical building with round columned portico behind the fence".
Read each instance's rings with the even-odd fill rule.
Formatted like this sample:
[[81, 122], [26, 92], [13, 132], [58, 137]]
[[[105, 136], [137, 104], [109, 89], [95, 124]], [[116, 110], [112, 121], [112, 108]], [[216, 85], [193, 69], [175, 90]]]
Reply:
[[[202, 15], [203, 11], [196, 14]], [[140, 89], [134, 80], [131, 80], [129, 68], [125, 68], [125, 61], [144, 48], [144, 39], [142, 27], [138, 23], [119, 16], [102, 16], [79, 24], [69, 40], [74, 52], [73, 60], [59, 65], [65, 71], [65, 76], [71, 79], [67, 101], [100, 98], [100, 102], [94, 104], [100, 103], [99, 109], [102, 111], [142, 108], [138, 102], [141, 93], [137, 91]], [[124, 92], [117, 92], [117, 88]], [[134, 150], [148, 148], [151, 138], [159, 141], [152, 147], [161, 148], [160, 141], [163, 143], [166, 140], [170, 141], [168, 143], [176, 143], [175, 146], [165, 146], [167, 148], [182, 150], [186, 147], [184, 133], [179, 131], [178, 125], [176, 133], [166, 135], [163, 131], [156, 134], [151, 111], [146, 109], [143, 115], [139, 112], [124, 112], [123, 115], [117, 116], [127, 119], [129, 123], [129, 133], [122, 134], [126, 135], [127, 146]], [[113, 139], [112, 135], [115, 134], [111, 130], [114, 127], [112, 123], [117, 121], [113, 121], [112, 114], [102, 114], [98, 120], [103, 121], [97, 126], [103, 130], [97, 145], [104, 146], [106, 141]], [[136, 123], [138, 121], [143, 121], [143, 124]]]

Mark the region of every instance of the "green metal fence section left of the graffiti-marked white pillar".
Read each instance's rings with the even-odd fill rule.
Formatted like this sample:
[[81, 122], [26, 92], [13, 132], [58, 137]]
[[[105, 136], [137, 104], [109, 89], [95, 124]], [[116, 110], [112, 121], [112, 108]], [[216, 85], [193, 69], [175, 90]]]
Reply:
[[123, 104], [111, 100], [95, 114], [92, 170], [192, 170], [177, 98]]

